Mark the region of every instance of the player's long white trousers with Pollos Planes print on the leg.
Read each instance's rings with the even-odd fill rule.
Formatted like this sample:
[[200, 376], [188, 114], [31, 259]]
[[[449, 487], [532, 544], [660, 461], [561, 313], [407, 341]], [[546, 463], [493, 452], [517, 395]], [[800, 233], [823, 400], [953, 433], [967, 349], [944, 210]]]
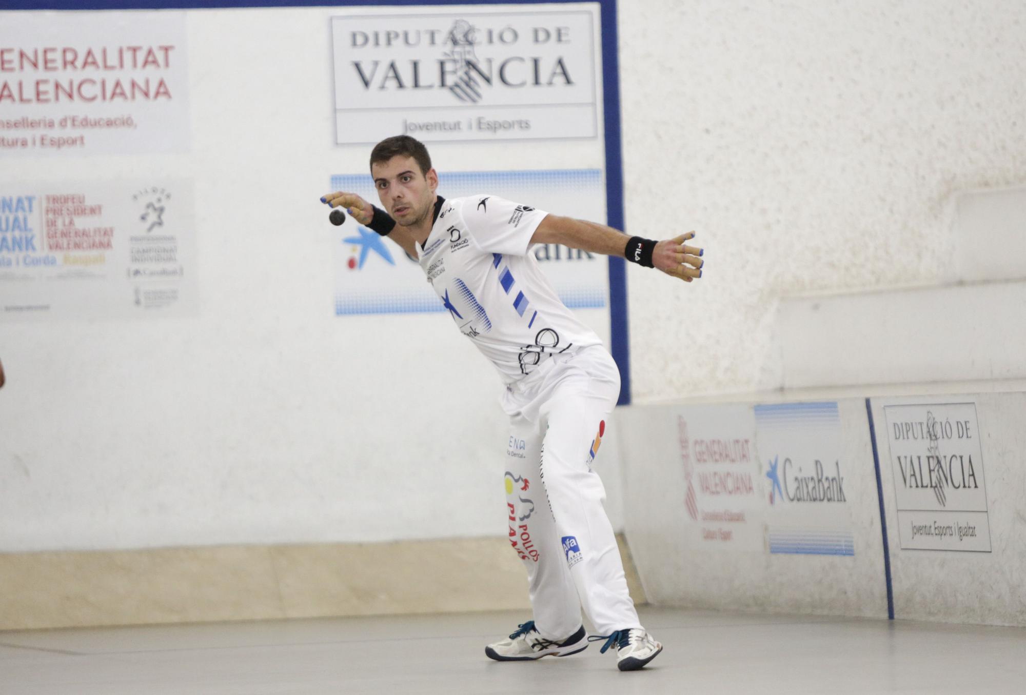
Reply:
[[507, 389], [509, 540], [527, 569], [535, 626], [562, 640], [640, 627], [592, 466], [620, 394], [620, 372], [601, 345], [557, 355]]

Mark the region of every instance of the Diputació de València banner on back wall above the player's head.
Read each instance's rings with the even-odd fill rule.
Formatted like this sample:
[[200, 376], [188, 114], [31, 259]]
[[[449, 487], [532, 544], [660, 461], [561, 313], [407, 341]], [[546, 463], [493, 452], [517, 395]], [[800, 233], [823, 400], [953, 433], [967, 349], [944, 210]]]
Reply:
[[336, 142], [594, 138], [598, 5], [331, 18]]

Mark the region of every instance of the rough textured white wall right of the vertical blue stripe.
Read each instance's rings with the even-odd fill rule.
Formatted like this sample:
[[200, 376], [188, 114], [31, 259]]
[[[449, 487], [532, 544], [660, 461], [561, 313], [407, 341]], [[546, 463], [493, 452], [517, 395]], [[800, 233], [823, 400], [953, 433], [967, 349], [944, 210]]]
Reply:
[[628, 275], [636, 402], [775, 386], [793, 293], [932, 284], [953, 194], [1026, 181], [1026, 4], [621, 4], [628, 231], [706, 277]]

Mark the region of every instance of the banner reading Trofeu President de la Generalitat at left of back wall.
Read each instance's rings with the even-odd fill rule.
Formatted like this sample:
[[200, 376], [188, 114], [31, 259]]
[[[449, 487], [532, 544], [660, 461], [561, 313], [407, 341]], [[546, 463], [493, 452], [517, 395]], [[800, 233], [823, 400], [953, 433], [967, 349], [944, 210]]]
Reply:
[[0, 319], [196, 310], [192, 181], [0, 185]]

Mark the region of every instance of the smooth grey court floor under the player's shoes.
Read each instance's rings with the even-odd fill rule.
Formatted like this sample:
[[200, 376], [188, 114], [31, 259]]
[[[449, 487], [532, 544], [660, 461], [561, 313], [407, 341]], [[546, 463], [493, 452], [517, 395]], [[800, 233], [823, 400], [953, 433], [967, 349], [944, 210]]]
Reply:
[[499, 663], [527, 616], [473, 613], [0, 632], [0, 693], [1023, 693], [1026, 629], [642, 607], [665, 649]]

